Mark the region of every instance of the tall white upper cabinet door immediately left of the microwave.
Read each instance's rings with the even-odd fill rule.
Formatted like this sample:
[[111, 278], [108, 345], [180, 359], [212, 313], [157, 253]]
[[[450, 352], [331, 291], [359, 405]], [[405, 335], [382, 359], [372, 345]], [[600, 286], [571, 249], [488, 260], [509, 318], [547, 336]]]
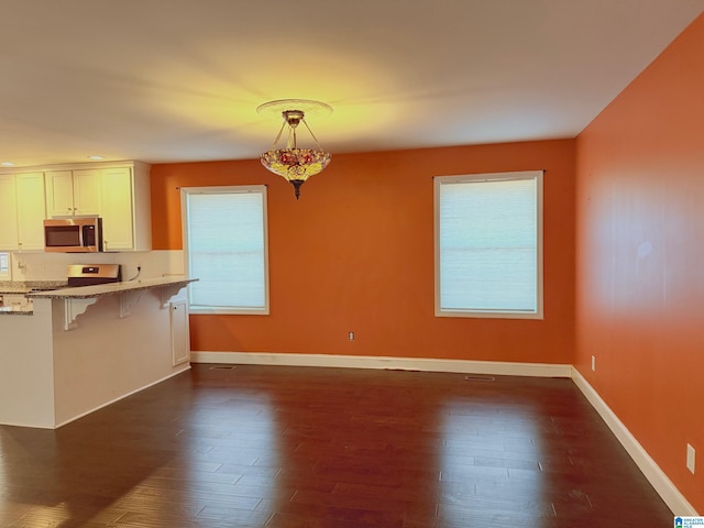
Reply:
[[16, 176], [18, 238], [23, 251], [44, 249], [44, 173]]

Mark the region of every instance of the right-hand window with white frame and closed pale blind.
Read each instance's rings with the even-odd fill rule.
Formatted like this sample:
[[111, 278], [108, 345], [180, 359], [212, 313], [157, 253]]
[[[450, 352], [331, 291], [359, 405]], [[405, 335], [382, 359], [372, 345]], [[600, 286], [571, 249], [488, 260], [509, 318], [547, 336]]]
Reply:
[[436, 316], [542, 318], [542, 170], [435, 178]]

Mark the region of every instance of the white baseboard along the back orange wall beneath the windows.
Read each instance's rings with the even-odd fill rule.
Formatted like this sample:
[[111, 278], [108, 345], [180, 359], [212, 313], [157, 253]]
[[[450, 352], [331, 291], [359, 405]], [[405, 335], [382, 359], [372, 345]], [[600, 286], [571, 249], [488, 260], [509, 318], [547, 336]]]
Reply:
[[264, 352], [191, 352], [191, 363], [241, 365], [332, 366], [400, 371], [455, 372], [497, 376], [571, 377], [572, 365], [502, 361], [432, 360], [366, 355], [280, 354]]

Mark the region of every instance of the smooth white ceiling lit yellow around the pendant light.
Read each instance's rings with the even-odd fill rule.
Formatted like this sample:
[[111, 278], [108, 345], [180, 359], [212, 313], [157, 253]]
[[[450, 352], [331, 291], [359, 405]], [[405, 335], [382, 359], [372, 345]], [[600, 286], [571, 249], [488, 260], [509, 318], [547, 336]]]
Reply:
[[[317, 99], [333, 153], [573, 138], [704, 0], [1, 0], [0, 162], [257, 157]], [[302, 135], [305, 138], [305, 135]]]

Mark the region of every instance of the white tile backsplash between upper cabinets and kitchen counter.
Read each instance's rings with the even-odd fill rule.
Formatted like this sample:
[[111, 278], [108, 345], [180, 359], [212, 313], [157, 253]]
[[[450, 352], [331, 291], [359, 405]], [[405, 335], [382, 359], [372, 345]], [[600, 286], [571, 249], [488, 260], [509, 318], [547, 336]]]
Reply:
[[[64, 280], [69, 264], [120, 264], [122, 280], [129, 280], [141, 267], [141, 278], [184, 274], [184, 252], [143, 251], [125, 253], [10, 253], [11, 274], [7, 279]], [[0, 278], [1, 279], [1, 278]]]

